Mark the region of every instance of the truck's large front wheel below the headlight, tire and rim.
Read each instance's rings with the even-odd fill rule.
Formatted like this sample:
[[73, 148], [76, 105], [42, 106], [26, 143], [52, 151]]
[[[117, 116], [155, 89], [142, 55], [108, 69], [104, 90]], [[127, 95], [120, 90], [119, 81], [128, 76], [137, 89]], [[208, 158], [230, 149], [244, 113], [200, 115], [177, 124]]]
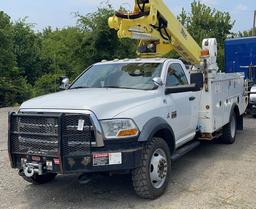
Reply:
[[136, 194], [145, 199], [156, 199], [161, 196], [168, 185], [170, 171], [169, 146], [162, 138], [154, 137], [146, 142], [142, 150], [140, 166], [132, 171]]

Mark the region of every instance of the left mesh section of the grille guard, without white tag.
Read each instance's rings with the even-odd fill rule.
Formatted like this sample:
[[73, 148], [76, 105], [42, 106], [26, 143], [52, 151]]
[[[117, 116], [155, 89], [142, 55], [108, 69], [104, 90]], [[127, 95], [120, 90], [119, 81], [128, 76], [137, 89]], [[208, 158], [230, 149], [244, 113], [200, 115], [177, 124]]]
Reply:
[[15, 154], [59, 155], [60, 120], [58, 115], [13, 114], [10, 144]]

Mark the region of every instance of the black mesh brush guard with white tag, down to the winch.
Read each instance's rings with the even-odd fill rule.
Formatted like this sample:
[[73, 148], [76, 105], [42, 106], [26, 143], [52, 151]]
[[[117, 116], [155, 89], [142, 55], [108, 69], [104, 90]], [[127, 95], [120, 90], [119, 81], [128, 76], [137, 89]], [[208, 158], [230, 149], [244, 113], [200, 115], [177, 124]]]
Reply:
[[44, 165], [47, 160], [59, 160], [52, 172], [62, 174], [86, 169], [96, 143], [90, 115], [86, 114], [10, 113], [8, 138], [13, 168], [22, 169], [22, 158], [29, 162], [39, 158]]

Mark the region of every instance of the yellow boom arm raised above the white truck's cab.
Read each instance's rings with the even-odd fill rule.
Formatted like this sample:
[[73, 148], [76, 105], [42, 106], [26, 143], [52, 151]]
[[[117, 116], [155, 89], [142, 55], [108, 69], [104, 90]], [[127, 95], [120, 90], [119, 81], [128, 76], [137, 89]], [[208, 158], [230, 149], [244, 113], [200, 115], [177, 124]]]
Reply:
[[119, 38], [140, 40], [140, 56], [164, 56], [176, 50], [188, 62], [200, 63], [200, 46], [162, 0], [135, 0], [132, 13], [117, 12], [108, 24]]

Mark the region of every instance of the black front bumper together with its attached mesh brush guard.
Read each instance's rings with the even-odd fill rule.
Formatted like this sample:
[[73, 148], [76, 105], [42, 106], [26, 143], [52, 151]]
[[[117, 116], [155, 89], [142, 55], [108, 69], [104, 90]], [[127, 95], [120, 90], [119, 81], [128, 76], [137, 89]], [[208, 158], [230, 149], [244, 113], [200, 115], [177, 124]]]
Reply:
[[[137, 137], [107, 140], [104, 146], [97, 146], [93, 143], [93, 130], [76, 132], [73, 124], [71, 126], [65, 121], [63, 114], [33, 115], [31, 117], [36, 119], [23, 119], [30, 116], [15, 113], [9, 116], [8, 149], [12, 168], [24, 170], [34, 166], [41, 168], [41, 173], [69, 174], [115, 172], [138, 167], [142, 145]], [[76, 115], [76, 120], [83, 117]], [[47, 126], [31, 124], [39, 120], [46, 121]], [[85, 123], [84, 127], [90, 127], [89, 123]], [[71, 130], [67, 131], [67, 127]]]

